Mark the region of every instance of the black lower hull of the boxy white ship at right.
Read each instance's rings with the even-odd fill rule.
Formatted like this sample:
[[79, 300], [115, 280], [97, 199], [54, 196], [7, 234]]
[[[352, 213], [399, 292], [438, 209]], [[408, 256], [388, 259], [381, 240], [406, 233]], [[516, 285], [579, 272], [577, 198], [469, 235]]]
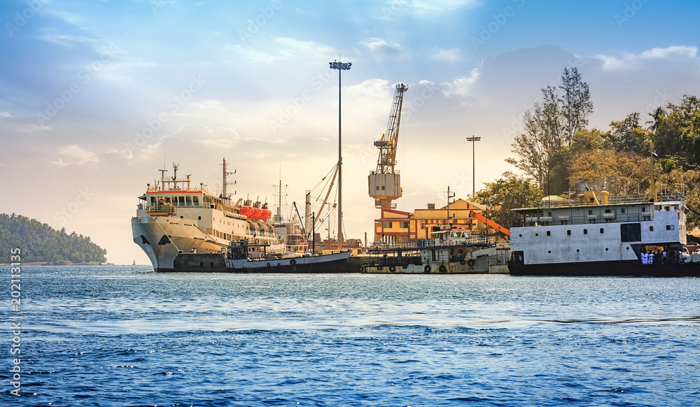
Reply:
[[640, 264], [638, 260], [508, 264], [513, 276], [700, 277], [699, 263]]

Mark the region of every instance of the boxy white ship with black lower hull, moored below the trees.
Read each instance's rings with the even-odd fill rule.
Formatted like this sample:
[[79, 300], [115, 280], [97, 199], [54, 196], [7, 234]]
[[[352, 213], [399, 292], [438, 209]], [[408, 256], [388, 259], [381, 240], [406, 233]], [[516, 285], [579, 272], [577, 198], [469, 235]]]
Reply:
[[682, 194], [573, 199], [519, 208], [508, 269], [530, 276], [700, 276], [688, 256]]

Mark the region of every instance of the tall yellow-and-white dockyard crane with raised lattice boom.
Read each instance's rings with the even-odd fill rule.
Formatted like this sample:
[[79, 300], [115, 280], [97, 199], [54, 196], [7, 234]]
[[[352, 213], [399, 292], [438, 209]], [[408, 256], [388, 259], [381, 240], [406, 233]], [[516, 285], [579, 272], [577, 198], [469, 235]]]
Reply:
[[398, 145], [398, 129], [401, 124], [403, 94], [407, 90], [407, 85], [396, 84], [386, 133], [382, 134], [379, 140], [374, 141], [374, 146], [379, 148], [379, 159], [377, 159], [377, 169], [370, 171], [368, 181], [370, 197], [374, 198], [375, 208], [395, 208], [396, 204], [391, 203], [391, 201], [400, 198], [403, 194], [401, 176], [394, 167], [396, 165], [396, 147]]

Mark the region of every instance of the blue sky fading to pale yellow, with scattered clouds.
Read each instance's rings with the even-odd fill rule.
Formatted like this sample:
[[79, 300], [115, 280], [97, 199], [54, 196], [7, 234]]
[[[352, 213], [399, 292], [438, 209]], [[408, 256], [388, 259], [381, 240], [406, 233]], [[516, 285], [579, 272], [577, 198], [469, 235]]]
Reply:
[[699, 15], [700, 2], [659, 0], [6, 0], [0, 213], [90, 236], [109, 262], [149, 264], [130, 218], [164, 166], [218, 193], [225, 157], [233, 198], [272, 202], [281, 180], [287, 214], [305, 190], [317, 208], [337, 162], [328, 62], [339, 59], [352, 62], [344, 228], [372, 241], [367, 175], [396, 83], [409, 90], [395, 203], [444, 205], [447, 187], [466, 199], [472, 181], [517, 172], [504, 159], [522, 115], [565, 67], [589, 84], [589, 127], [602, 130], [700, 95]]

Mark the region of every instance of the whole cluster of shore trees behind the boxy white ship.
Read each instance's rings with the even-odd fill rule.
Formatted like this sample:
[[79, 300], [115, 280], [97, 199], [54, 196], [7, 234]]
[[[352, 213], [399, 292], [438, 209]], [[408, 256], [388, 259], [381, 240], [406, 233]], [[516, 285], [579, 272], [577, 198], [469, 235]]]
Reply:
[[700, 226], [700, 99], [684, 95], [643, 117], [633, 112], [609, 129], [589, 129], [593, 113], [588, 84], [576, 67], [565, 68], [560, 85], [542, 88], [542, 98], [526, 110], [523, 129], [505, 161], [523, 175], [506, 172], [477, 192], [485, 215], [510, 225], [510, 209], [538, 206], [542, 197], [584, 187], [598, 196], [647, 195], [653, 166], [656, 190], [685, 192], [687, 227]]

